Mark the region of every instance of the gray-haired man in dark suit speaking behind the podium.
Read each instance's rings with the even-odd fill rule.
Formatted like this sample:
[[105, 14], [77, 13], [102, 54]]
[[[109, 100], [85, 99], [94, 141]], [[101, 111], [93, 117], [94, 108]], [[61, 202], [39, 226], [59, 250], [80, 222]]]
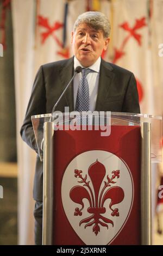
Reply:
[[[23, 140], [37, 154], [31, 115], [52, 112], [54, 103], [59, 99], [77, 66], [82, 66], [83, 69], [89, 68], [91, 71], [86, 76], [89, 88], [86, 93], [86, 95], [89, 93], [89, 102], [87, 102], [89, 109], [85, 109], [83, 105], [83, 108], [80, 106], [79, 90], [83, 78], [83, 73], [80, 73], [74, 78], [55, 110], [64, 112], [65, 106], [68, 106], [70, 111], [140, 113], [134, 75], [128, 70], [101, 59], [103, 50], [106, 50], [109, 44], [109, 33], [110, 23], [104, 14], [89, 11], [80, 15], [74, 23], [72, 32], [74, 57], [42, 65], [37, 72], [26, 117], [21, 128]], [[37, 245], [41, 244], [42, 239], [42, 176], [42, 162], [37, 155], [34, 180], [35, 243]]]

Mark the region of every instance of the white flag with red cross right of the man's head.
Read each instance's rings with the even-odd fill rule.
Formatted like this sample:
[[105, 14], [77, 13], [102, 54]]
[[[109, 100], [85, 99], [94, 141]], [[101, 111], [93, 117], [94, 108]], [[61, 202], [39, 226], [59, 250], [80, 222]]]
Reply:
[[147, 0], [117, 0], [112, 3], [112, 62], [134, 73], [141, 112], [153, 113], [153, 75], [147, 3]]

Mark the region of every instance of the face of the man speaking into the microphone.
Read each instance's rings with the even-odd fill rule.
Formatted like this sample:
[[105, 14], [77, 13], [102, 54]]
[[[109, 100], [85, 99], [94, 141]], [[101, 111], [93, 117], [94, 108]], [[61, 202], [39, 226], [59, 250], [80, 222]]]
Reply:
[[106, 50], [109, 40], [104, 38], [102, 31], [96, 31], [83, 23], [72, 32], [73, 54], [83, 66], [91, 66], [101, 56], [103, 50]]

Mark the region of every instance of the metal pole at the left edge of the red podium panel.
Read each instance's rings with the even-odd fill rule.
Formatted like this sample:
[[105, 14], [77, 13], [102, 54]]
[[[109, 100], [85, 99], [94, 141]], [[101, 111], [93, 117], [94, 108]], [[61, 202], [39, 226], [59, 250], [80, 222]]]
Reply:
[[53, 123], [44, 123], [43, 133], [42, 245], [52, 245], [53, 229]]

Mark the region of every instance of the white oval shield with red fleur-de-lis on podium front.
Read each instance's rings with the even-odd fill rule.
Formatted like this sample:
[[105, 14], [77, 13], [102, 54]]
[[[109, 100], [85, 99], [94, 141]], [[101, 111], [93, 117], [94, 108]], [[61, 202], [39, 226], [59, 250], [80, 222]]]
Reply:
[[67, 225], [86, 245], [107, 245], [116, 238], [130, 215], [133, 195], [126, 163], [103, 150], [76, 156], [62, 178]]

